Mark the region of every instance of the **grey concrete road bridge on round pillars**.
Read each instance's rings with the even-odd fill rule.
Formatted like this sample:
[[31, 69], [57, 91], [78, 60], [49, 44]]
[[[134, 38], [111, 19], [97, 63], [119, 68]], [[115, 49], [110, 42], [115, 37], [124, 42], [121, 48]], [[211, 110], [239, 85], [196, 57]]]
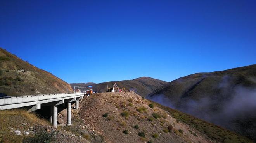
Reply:
[[41, 94], [25, 96], [0, 97], [0, 110], [24, 108], [27, 112], [36, 111], [43, 107], [50, 107], [50, 122], [57, 128], [58, 106], [67, 108], [67, 125], [71, 125], [71, 103], [76, 102], [76, 109], [79, 108], [80, 99], [85, 93], [60, 93]]

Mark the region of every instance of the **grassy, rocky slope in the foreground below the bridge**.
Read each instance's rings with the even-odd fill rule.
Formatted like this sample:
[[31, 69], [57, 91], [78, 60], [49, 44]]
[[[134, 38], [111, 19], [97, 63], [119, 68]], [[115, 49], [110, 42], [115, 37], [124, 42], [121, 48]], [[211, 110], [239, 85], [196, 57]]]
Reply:
[[[19, 131], [21, 135], [17, 135]], [[1, 143], [88, 143], [90, 140], [73, 135], [62, 128], [52, 128], [34, 113], [26, 113], [21, 109], [0, 111]]]

